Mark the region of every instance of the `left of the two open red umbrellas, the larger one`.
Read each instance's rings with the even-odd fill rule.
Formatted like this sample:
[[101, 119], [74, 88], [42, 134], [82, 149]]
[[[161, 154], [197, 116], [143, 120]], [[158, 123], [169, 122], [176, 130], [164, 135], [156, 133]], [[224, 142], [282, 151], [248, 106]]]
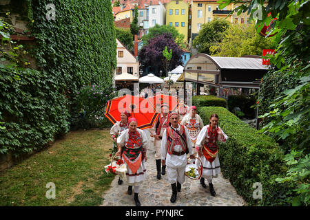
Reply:
[[148, 129], [154, 125], [158, 113], [148, 100], [138, 96], [126, 95], [107, 102], [105, 116], [113, 123], [121, 120], [121, 112], [131, 113], [130, 118], [136, 118], [138, 129]]

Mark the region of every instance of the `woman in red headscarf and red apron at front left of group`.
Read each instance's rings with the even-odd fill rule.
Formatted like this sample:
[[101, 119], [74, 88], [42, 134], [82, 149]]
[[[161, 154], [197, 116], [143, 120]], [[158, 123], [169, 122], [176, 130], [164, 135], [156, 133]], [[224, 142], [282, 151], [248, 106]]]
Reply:
[[128, 124], [128, 129], [117, 137], [118, 152], [116, 155], [121, 155], [123, 162], [127, 166], [127, 193], [132, 195], [132, 186], [134, 186], [134, 201], [136, 206], [141, 206], [138, 192], [139, 186], [147, 177], [145, 166], [147, 161], [147, 137], [144, 131], [137, 129], [136, 118], [130, 118]]

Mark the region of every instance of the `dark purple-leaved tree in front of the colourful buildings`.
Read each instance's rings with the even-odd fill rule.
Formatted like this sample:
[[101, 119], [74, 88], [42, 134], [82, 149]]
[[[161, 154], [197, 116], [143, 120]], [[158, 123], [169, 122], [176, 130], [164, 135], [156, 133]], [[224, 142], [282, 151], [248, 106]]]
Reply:
[[151, 39], [147, 45], [144, 45], [138, 52], [138, 61], [145, 67], [156, 66], [157, 72], [162, 70], [165, 72], [166, 58], [163, 56], [163, 50], [167, 47], [168, 51], [172, 51], [172, 58], [169, 62], [168, 69], [173, 69], [178, 65], [182, 65], [183, 51], [178, 47], [172, 34], [165, 33]]

